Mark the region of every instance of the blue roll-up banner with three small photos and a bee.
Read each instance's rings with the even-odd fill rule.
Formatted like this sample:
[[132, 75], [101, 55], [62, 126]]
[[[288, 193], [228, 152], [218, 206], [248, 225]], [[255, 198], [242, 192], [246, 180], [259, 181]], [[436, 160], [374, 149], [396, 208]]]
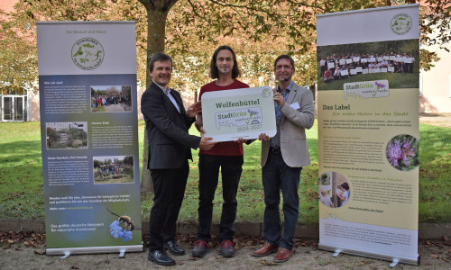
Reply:
[[135, 23], [37, 37], [47, 254], [143, 251]]

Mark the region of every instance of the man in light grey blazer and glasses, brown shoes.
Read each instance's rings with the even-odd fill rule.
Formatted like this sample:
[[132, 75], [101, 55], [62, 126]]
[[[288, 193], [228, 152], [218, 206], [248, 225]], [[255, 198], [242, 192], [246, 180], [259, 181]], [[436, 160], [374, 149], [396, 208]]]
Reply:
[[[310, 164], [305, 129], [315, 121], [313, 94], [296, 85], [291, 77], [294, 60], [281, 55], [274, 62], [279, 85], [274, 92], [277, 134], [271, 139], [262, 133], [262, 182], [264, 192], [264, 247], [253, 252], [264, 257], [277, 252], [274, 261], [281, 263], [291, 256], [294, 231], [299, 216], [299, 178], [303, 166]], [[283, 196], [284, 228], [281, 237], [279, 204]]]

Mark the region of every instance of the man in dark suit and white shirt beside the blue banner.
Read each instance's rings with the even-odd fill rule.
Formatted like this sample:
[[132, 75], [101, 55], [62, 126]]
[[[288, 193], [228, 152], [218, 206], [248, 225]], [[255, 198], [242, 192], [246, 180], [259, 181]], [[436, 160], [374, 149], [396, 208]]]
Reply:
[[153, 182], [153, 206], [150, 217], [150, 245], [148, 259], [157, 265], [173, 266], [173, 255], [185, 250], [175, 241], [176, 222], [189, 175], [190, 148], [209, 149], [211, 138], [189, 135], [189, 127], [200, 112], [200, 103], [183, 107], [179, 92], [168, 87], [172, 73], [172, 59], [156, 53], [149, 62], [152, 84], [143, 93], [143, 112], [149, 139], [149, 162]]

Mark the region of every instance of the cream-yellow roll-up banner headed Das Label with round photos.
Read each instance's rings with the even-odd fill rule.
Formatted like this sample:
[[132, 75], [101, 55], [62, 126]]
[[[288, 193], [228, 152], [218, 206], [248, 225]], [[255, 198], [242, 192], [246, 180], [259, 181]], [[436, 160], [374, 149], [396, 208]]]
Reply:
[[317, 17], [319, 245], [419, 264], [419, 5]]

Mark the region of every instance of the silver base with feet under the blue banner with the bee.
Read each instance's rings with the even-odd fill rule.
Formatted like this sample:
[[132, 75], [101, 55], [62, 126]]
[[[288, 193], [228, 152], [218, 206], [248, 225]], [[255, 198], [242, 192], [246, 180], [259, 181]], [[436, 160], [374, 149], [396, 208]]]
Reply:
[[89, 253], [116, 253], [119, 257], [124, 257], [125, 252], [143, 252], [143, 245], [133, 246], [111, 246], [111, 247], [66, 247], [66, 248], [46, 248], [46, 255], [63, 255], [61, 259], [69, 257], [73, 254], [89, 254]]

